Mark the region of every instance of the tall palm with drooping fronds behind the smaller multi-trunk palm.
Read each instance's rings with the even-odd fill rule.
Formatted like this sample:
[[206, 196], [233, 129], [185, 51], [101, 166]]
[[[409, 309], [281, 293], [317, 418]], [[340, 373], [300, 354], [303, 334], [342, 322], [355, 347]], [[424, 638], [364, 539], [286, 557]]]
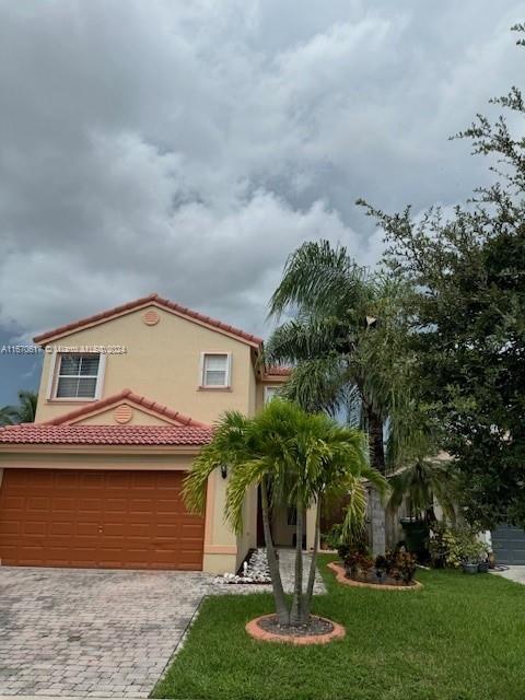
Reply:
[[320, 241], [289, 257], [270, 301], [270, 316], [294, 316], [265, 351], [268, 363], [295, 365], [283, 395], [308, 411], [347, 408], [383, 474], [410, 440], [412, 360], [400, 303], [407, 293], [393, 277], [368, 275], [343, 246]]

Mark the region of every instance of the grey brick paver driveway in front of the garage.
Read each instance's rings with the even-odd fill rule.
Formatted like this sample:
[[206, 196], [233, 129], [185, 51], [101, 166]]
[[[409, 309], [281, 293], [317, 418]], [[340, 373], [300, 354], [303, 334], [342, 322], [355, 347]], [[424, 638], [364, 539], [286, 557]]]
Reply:
[[147, 697], [210, 581], [0, 567], [0, 696]]

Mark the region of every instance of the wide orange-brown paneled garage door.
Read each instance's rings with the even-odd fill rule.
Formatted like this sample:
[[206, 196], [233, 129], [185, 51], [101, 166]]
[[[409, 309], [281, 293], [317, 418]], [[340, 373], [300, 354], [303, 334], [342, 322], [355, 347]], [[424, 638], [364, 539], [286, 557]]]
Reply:
[[203, 520], [182, 471], [4, 469], [2, 564], [202, 569]]

